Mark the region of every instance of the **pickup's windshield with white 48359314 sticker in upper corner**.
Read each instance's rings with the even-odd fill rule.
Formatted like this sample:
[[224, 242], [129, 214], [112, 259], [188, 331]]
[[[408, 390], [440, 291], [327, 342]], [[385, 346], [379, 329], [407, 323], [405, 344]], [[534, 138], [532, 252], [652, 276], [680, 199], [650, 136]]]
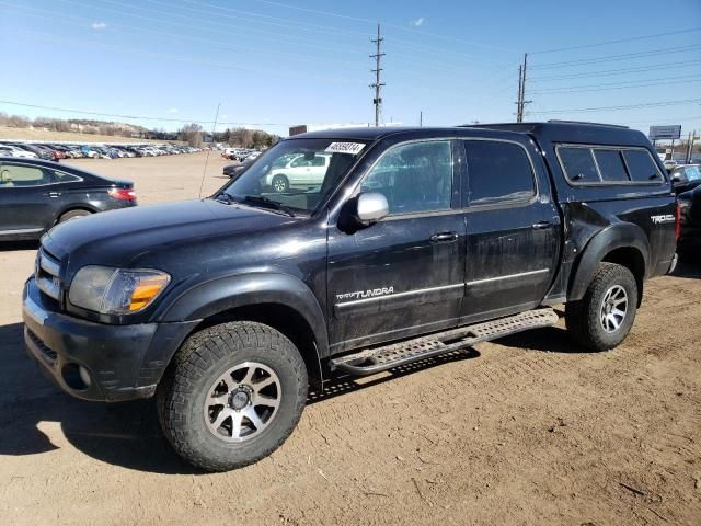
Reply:
[[[229, 199], [312, 213], [365, 151], [365, 141], [283, 140], [223, 188]], [[217, 196], [215, 196], [217, 197]]]

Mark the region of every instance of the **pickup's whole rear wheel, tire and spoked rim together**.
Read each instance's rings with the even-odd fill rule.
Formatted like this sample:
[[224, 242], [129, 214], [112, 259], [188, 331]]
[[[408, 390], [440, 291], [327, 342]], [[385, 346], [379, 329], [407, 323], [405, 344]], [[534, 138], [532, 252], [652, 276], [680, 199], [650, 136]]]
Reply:
[[631, 271], [599, 263], [584, 297], [565, 306], [565, 324], [574, 340], [591, 351], [621, 343], [637, 310], [637, 285]]

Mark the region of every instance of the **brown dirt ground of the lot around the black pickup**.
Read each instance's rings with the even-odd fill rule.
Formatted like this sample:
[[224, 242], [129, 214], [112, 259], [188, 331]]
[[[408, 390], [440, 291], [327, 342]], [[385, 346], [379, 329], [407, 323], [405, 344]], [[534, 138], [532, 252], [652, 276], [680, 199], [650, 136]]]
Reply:
[[[148, 205], [196, 196], [204, 155], [76, 163]], [[212, 155], [207, 191], [223, 164]], [[701, 524], [698, 255], [647, 284], [614, 351], [561, 324], [336, 384], [273, 456], [202, 474], [152, 403], [71, 399], [25, 357], [35, 249], [0, 248], [0, 524]]]

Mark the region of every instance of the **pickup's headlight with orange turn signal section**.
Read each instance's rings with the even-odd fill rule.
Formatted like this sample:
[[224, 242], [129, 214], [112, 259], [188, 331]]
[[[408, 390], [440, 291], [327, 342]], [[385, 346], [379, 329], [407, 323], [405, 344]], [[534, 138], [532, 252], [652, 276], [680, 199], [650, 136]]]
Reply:
[[103, 315], [127, 315], [148, 307], [168, 286], [171, 276], [160, 271], [83, 266], [68, 298], [77, 307]]

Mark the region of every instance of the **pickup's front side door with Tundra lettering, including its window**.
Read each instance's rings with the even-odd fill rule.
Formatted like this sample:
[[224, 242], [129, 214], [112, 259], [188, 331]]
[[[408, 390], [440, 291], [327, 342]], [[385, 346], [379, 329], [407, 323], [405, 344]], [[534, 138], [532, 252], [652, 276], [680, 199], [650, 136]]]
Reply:
[[332, 352], [457, 324], [466, 225], [453, 147], [428, 140], [390, 148], [360, 183], [360, 192], [387, 197], [389, 215], [352, 233], [330, 229]]

